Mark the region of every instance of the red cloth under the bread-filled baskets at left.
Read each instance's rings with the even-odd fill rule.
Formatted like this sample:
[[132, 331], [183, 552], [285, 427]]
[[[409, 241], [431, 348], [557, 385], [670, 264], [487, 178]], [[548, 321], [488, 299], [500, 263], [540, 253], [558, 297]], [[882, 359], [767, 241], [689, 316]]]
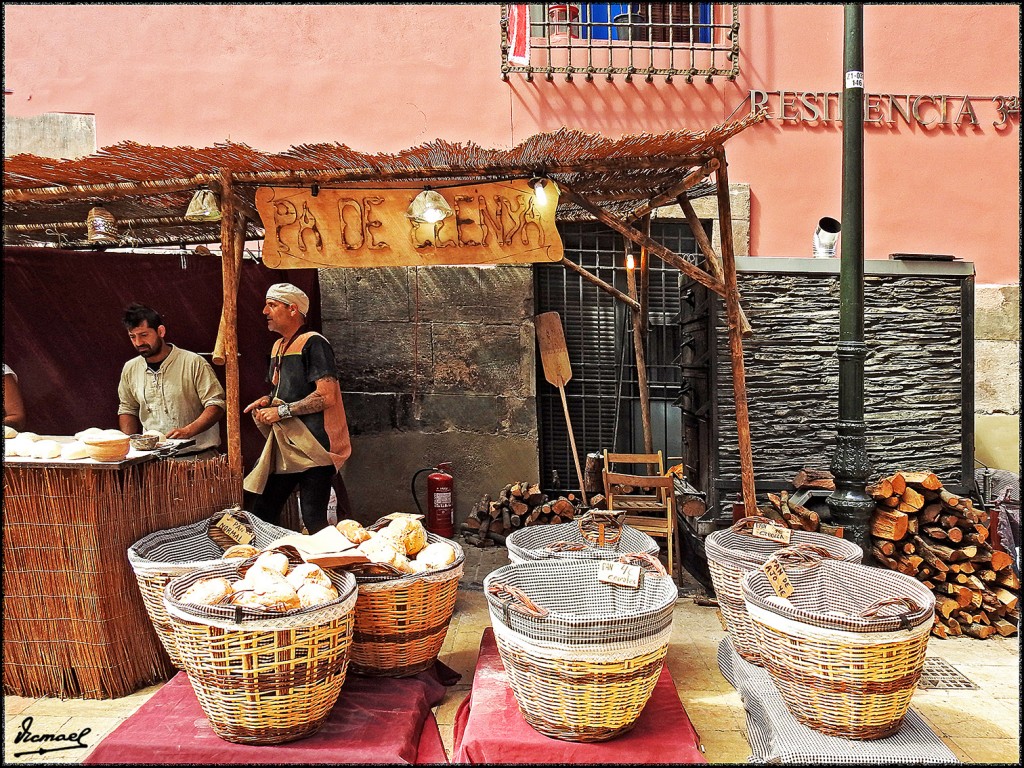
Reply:
[[324, 727], [284, 744], [225, 741], [179, 672], [83, 761], [100, 763], [446, 763], [431, 708], [444, 697], [438, 664], [408, 678], [349, 675]]

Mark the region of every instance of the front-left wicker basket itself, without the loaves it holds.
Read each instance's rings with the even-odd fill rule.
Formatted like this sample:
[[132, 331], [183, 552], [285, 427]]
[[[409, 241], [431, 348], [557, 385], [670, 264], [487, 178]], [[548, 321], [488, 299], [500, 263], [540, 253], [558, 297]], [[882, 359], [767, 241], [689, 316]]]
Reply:
[[338, 589], [336, 600], [283, 613], [178, 602], [199, 580], [238, 578], [253, 559], [171, 580], [165, 607], [213, 731], [225, 741], [280, 744], [319, 730], [338, 700], [348, 672], [355, 579], [328, 569]]

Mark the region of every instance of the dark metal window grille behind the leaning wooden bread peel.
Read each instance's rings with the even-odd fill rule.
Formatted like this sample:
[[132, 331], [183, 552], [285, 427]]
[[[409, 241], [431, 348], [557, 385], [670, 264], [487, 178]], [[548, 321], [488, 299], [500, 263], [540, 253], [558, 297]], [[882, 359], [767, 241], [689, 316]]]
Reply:
[[[626, 292], [620, 234], [591, 221], [565, 222], [559, 225], [559, 231], [566, 258]], [[652, 221], [651, 237], [693, 263], [702, 258], [693, 253], [696, 244], [684, 221]], [[683, 455], [681, 413], [675, 404], [682, 378], [676, 362], [681, 343], [680, 283], [678, 269], [660, 259], [650, 259], [647, 384], [654, 450], [665, 452], [666, 457]], [[572, 371], [572, 378], [565, 385], [565, 400], [581, 466], [587, 453], [603, 449], [643, 453], [629, 308], [557, 263], [536, 266], [535, 289], [537, 311], [557, 311], [562, 319]], [[537, 401], [541, 485], [545, 493], [567, 494], [579, 489], [561, 395], [544, 378], [540, 359]]]

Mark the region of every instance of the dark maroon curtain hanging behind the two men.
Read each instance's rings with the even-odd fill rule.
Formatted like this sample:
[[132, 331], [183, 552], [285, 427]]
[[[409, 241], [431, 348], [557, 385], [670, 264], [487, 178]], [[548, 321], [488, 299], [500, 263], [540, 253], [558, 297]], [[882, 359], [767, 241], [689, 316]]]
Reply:
[[[268, 269], [245, 260], [239, 285], [240, 407], [266, 394], [270, 345], [278, 338], [262, 314], [266, 289], [294, 283], [309, 295], [308, 327], [321, 330], [315, 269]], [[87, 427], [118, 425], [118, 381], [135, 354], [121, 324], [133, 301], [163, 315], [166, 339], [211, 359], [220, 323], [220, 260], [177, 254], [103, 253], [55, 248], [3, 250], [3, 361], [17, 374], [28, 429], [71, 435]], [[224, 369], [214, 366], [221, 383]], [[221, 423], [226, 451], [226, 417]], [[248, 471], [263, 438], [242, 418]]]

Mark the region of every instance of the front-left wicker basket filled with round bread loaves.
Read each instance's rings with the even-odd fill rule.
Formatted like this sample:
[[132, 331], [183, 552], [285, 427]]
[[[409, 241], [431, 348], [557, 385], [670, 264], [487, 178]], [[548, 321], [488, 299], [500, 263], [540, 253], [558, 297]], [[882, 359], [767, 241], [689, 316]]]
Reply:
[[319, 730], [348, 673], [355, 600], [351, 573], [287, 550], [172, 579], [165, 608], [213, 731], [279, 744]]

